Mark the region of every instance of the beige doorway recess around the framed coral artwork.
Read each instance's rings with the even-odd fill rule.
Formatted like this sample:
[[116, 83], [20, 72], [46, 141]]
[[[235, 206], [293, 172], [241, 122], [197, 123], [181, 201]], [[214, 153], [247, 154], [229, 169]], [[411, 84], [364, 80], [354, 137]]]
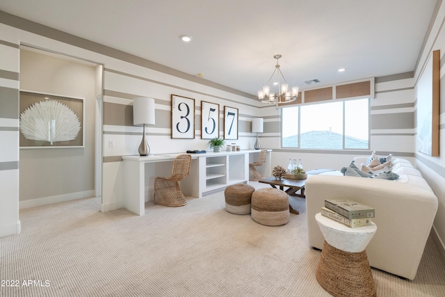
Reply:
[[81, 97], [84, 102], [83, 147], [20, 147], [20, 208], [93, 196], [102, 200], [103, 69], [99, 63], [20, 46], [21, 91]]

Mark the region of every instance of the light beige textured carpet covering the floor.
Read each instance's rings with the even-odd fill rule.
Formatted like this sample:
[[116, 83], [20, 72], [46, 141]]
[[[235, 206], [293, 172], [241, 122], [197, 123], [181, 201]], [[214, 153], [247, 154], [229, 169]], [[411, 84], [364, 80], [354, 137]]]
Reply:
[[[300, 215], [280, 227], [229, 214], [223, 191], [184, 207], [149, 202], [145, 216], [102, 214], [97, 198], [24, 209], [22, 234], [0, 239], [1, 280], [18, 280], [0, 296], [330, 296], [315, 279], [305, 200], [292, 199]], [[430, 240], [414, 281], [372, 273], [378, 296], [445, 296]]]

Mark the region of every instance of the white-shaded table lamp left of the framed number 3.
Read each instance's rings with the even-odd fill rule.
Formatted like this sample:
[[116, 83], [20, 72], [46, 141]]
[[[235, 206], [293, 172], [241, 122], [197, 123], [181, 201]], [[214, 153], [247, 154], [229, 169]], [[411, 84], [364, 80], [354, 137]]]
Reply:
[[133, 125], [143, 126], [142, 141], [138, 152], [140, 156], [148, 156], [150, 147], [145, 140], [145, 125], [154, 125], [154, 99], [136, 97], [133, 99]]

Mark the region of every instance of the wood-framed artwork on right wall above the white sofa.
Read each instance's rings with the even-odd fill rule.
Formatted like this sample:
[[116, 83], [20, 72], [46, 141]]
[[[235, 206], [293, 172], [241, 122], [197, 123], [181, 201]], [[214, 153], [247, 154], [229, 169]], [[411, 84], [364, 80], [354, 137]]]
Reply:
[[417, 85], [417, 151], [439, 156], [440, 51], [432, 51]]

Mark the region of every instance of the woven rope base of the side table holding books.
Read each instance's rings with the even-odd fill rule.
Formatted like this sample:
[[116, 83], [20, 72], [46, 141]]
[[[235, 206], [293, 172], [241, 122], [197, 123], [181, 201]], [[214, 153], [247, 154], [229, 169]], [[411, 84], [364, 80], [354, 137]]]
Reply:
[[316, 280], [332, 296], [377, 296], [366, 250], [345, 252], [325, 241]]

